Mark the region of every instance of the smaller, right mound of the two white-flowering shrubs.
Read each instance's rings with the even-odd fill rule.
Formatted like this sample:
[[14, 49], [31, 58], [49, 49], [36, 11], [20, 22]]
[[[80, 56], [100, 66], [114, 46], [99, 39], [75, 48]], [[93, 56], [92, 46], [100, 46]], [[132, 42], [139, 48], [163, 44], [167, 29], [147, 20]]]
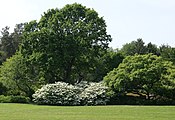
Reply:
[[80, 99], [82, 105], [105, 105], [109, 98], [106, 95], [107, 87], [102, 82], [91, 82], [81, 92]]

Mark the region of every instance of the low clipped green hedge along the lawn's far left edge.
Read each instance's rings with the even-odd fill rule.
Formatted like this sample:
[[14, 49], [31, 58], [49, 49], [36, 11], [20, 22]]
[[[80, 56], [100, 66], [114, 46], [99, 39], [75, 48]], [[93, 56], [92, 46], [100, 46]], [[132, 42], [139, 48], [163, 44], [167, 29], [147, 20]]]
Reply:
[[0, 103], [29, 103], [30, 99], [25, 96], [0, 95]]

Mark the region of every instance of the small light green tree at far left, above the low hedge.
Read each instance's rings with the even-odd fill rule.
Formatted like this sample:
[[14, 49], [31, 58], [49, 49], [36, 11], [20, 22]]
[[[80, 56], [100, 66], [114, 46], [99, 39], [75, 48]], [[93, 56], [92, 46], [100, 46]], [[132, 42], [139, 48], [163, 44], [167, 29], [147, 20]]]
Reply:
[[[7, 59], [0, 68], [0, 81], [7, 88], [8, 94], [25, 93], [31, 98], [34, 90], [38, 87], [39, 79], [36, 71], [29, 71], [27, 60], [20, 54]], [[30, 67], [30, 65], [29, 65]]]

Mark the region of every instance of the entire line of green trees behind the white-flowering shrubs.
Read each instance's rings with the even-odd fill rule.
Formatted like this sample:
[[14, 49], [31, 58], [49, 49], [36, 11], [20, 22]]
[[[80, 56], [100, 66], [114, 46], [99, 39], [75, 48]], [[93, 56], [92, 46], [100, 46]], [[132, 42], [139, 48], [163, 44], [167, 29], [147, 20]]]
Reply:
[[114, 103], [128, 96], [174, 99], [175, 49], [141, 38], [109, 48], [105, 20], [81, 4], [49, 9], [39, 21], [17, 24], [12, 33], [5, 27], [1, 34], [2, 95], [32, 100], [43, 85], [88, 81], [103, 82]]

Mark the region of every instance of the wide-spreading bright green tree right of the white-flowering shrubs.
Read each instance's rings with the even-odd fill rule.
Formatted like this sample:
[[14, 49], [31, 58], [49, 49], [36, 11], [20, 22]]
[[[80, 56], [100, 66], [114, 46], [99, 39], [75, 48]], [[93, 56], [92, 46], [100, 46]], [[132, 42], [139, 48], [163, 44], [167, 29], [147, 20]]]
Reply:
[[[115, 95], [135, 93], [147, 99], [174, 98], [175, 67], [156, 55], [126, 57], [104, 81]], [[171, 93], [172, 94], [169, 94]]]

